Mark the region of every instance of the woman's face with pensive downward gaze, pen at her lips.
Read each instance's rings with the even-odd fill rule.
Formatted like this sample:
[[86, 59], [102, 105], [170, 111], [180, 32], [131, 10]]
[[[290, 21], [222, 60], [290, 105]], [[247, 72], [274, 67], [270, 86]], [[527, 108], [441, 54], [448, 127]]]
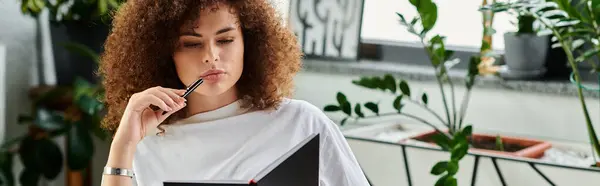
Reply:
[[198, 78], [203, 96], [235, 94], [244, 66], [244, 41], [238, 17], [230, 7], [205, 8], [191, 25], [182, 27], [173, 55], [177, 74], [186, 86]]

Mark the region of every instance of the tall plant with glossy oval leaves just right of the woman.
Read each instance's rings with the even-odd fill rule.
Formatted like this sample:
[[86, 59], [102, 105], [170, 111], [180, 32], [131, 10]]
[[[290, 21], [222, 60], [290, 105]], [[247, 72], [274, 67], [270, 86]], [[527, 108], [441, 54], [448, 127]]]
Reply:
[[[481, 57], [480, 55], [476, 55], [470, 58], [468, 73], [464, 82], [466, 91], [463, 95], [460, 107], [457, 107], [455, 84], [449, 77], [448, 70], [460, 60], [457, 58], [452, 59], [454, 51], [445, 48], [444, 36], [431, 34], [430, 32], [437, 21], [437, 5], [431, 0], [410, 0], [410, 3], [417, 9], [417, 12], [419, 13], [417, 16], [409, 20], [401, 13], [397, 13], [397, 15], [400, 19], [400, 24], [405, 26], [408, 32], [417, 36], [424, 46], [423, 49], [429, 57], [431, 67], [435, 72], [439, 91], [442, 95], [441, 99], [443, 102], [444, 114], [440, 115], [429, 107], [429, 97], [426, 93], [415, 95], [405, 80], [396, 80], [390, 74], [371, 77], [364, 76], [360, 79], [353, 80], [352, 83], [360, 87], [380, 90], [395, 96], [394, 101], [390, 103], [390, 106], [394, 108], [393, 112], [380, 113], [379, 101], [353, 104], [342, 92], [338, 92], [336, 95], [337, 104], [325, 106], [324, 111], [343, 112], [346, 116], [341, 121], [342, 125], [344, 125], [348, 119], [359, 120], [400, 115], [431, 126], [437, 131], [433, 140], [442, 149], [449, 151], [451, 156], [449, 160], [436, 163], [431, 168], [430, 173], [440, 176], [436, 182], [436, 186], [457, 185], [457, 180], [454, 176], [459, 170], [458, 162], [468, 152], [468, 137], [471, 136], [472, 133], [472, 127], [470, 125], [463, 127], [463, 124], [465, 123], [464, 118], [466, 116], [471, 90], [477, 76], [480, 75], [478, 66], [481, 63]], [[444, 126], [446, 130], [439, 129], [438, 126], [440, 125], [435, 125], [428, 119], [404, 112], [404, 107], [407, 103], [416, 105], [433, 114], [438, 120], [437, 123]], [[363, 108], [370, 110], [372, 114], [366, 114], [363, 112]]]

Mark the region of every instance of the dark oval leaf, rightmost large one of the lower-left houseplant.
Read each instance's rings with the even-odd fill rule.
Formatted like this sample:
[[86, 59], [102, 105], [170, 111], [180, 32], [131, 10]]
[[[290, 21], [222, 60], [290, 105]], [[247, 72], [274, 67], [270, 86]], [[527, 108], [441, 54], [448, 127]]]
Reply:
[[85, 123], [75, 122], [68, 133], [68, 165], [72, 170], [82, 170], [88, 166], [94, 154], [94, 144]]

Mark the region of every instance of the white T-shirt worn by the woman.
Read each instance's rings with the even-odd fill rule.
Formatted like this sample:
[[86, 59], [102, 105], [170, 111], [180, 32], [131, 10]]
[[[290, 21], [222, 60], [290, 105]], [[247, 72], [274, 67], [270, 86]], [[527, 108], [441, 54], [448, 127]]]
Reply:
[[134, 185], [165, 180], [250, 180], [313, 133], [320, 133], [320, 185], [369, 185], [337, 125], [314, 105], [285, 99], [277, 110], [246, 112], [234, 102], [147, 135], [133, 160]]

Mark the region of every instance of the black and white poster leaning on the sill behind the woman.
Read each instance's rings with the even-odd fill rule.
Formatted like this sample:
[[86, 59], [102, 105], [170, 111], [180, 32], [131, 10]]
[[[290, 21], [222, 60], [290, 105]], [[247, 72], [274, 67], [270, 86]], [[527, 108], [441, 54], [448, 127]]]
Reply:
[[307, 57], [358, 57], [364, 0], [291, 0], [289, 23]]

